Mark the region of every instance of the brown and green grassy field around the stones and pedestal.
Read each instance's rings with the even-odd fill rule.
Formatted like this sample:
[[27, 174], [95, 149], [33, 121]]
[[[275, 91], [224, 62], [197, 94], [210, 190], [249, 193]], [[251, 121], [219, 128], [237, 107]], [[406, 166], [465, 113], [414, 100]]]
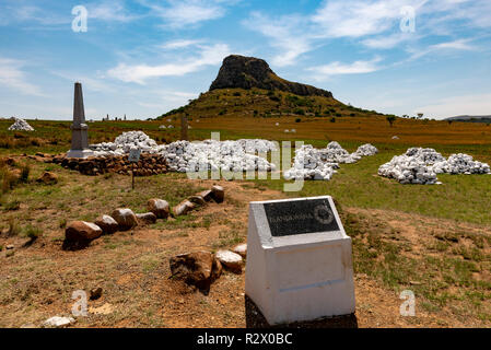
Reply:
[[[90, 122], [90, 141], [114, 140], [122, 131], [136, 129], [145, 131], [159, 143], [177, 140], [177, 117], [169, 117], [171, 121], [166, 118]], [[0, 199], [3, 232], [0, 305], [8, 311], [0, 313], [0, 326], [38, 322], [69, 310], [70, 291], [95, 284], [104, 285], [109, 293], [104, 301], [116, 311], [110, 317], [87, 318], [80, 326], [244, 326], [244, 315], [237, 312], [237, 307], [244, 307], [243, 299], [236, 293], [243, 291], [242, 277], [225, 276], [211, 299], [185, 296], [180, 303], [183, 296], [175, 295], [166, 281], [167, 258], [190, 248], [217, 249], [243, 242], [249, 200], [318, 195], [331, 195], [337, 200], [346, 230], [353, 238], [360, 326], [490, 326], [491, 176], [439, 175], [443, 185], [404, 186], [376, 173], [381, 164], [409, 147], [431, 147], [444, 155], [464, 152], [491, 163], [491, 127], [407, 119], [397, 119], [390, 126], [384, 116], [376, 115], [347, 115], [337, 117], [335, 122], [315, 115], [300, 118], [299, 121], [299, 116], [192, 116], [189, 136], [198, 140], [209, 138], [211, 131], [220, 131], [222, 140], [302, 140], [316, 147], [336, 140], [349, 151], [371, 142], [379, 153], [355, 164], [341, 164], [330, 182], [306, 182], [300, 192], [283, 192], [283, 180], [221, 182], [231, 194], [223, 209], [207, 208], [135, 233], [107, 236], [77, 254], [60, 253], [67, 222], [94, 220], [120, 206], [141, 212], [151, 197], [163, 197], [175, 205], [213, 182], [194, 183], [184, 175], [165, 174], [139, 178], [138, 190], [130, 191], [130, 179], [125, 176], [87, 177], [57, 165], [22, 160], [30, 165], [28, 178], [5, 190]], [[10, 124], [0, 119], [0, 158], [60, 153], [70, 148], [69, 122], [30, 120], [36, 129], [32, 133], [7, 131]], [[176, 128], [159, 129], [162, 124]], [[283, 132], [292, 128], [295, 133]], [[399, 139], [394, 140], [393, 136]], [[59, 175], [57, 185], [34, 180], [46, 170]], [[15, 234], [7, 236], [11, 230]], [[39, 238], [7, 257], [8, 243], [23, 245], [22, 240], [27, 242], [31, 236]], [[82, 266], [78, 265], [80, 261]], [[57, 266], [62, 268], [58, 270]], [[84, 276], [84, 281], [80, 276]], [[126, 282], [127, 279], [135, 281]], [[50, 287], [49, 281], [56, 282]], [[417, 293], [418, 317], [387, 318], [388, 311], [384, 307], [387, 303], [400, 304], [397, 293], [404, 289]], [[166, 308], [157, 301], [162, 295], [167, 295], [175, 305]], [[375, 296], [369, 295], [385, 299], [375, 303]], [[215, 296], [219, 302], [212, 299]], [[223, 304], [234, 312], [220, 306]], [[94, 305], [100, 306], [103, 305]], [[149, 313], [144, 317], [142, 308]], [[215, 319], [208, 324], [194, 320], [210, 314]]]

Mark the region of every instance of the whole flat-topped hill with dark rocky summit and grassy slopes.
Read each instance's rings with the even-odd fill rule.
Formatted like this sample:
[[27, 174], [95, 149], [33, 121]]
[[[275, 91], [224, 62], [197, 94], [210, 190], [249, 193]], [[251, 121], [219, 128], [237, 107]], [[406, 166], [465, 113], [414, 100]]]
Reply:
[[379, 115], [346, 105], [334, 98], [330, 91], [284, 80], [262, 59], [238, 55], [223, 60], [208, 92], [156, 119], [183, 114], [190, 118], [316, 116], [331, 119]]

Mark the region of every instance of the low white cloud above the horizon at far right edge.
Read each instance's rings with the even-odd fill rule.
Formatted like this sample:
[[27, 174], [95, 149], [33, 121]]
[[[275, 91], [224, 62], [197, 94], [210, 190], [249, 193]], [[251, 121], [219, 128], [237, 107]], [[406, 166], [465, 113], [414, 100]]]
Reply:
[[435, 118], [491, 115], [491, 93], [446, 97], [435, 104], [418, 107], [413, 112]]

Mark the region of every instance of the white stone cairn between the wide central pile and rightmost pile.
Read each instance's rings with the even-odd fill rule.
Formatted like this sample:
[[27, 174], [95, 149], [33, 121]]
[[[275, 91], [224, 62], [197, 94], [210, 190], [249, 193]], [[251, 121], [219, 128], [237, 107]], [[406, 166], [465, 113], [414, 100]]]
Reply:
[[363, 156], [374, 155], [378, 150], [367, 143], [353, 153], [344, 150], [338, 142], [329, 142], [325, 149], [303, 145], [295, 151], [293, 166], [283, 173], [285, 179], [325, 179], [329, 180], [339, 163], [355, 163]]

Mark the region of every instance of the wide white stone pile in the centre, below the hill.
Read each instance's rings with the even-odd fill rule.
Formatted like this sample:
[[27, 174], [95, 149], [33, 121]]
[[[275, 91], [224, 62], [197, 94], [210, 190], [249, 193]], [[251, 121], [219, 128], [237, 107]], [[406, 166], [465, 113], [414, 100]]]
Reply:
[[176, 141], [165, 145], [161, 153], [164, 154], [168, 168], [179, 173], [218, 170], [242, 173], [273, 171], [274, 164], [269, 163], [265, 158], [267, 152], [274, 150], [277, 150], [274, 142], [260, 139], [204, 140], [201, 142]]

